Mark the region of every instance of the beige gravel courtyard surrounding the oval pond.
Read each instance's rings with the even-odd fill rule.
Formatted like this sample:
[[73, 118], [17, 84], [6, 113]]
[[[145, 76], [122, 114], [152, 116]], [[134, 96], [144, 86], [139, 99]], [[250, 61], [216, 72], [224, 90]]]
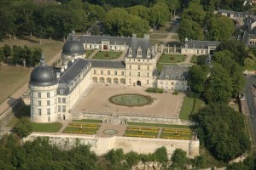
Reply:
[[[169, 93], [152, 94], [145, 92], [146, 88], [93, 85], [79, 100], [74, 111], [115, 113], [133, 116], [174, 116], [177, 117], [183, 103], [184, 94]], [[125, 106], [114, 105], [108, 99], [117, 94], [142, 94], [153, 99], [150, 105]]]

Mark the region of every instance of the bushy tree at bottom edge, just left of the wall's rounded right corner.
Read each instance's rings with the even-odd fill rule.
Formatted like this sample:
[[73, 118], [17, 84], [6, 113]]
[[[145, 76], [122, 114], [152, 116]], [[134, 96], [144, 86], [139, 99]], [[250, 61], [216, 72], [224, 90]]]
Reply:
[[187, 164], [189, 159], [187, 158], [186, 151], [182, 149], [176, 149], [172, 155], [172, 167], [174, 169], [188, 169]]

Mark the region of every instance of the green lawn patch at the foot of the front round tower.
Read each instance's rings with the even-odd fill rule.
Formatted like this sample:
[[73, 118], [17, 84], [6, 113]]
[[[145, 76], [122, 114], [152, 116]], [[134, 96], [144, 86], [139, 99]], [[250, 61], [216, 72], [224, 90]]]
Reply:
[[49, 123], [39, 123], [32, 122], [33, 132], [42, 132], [42, 133], [56, 133], [61, 127], [61, 122], [49, 122]]

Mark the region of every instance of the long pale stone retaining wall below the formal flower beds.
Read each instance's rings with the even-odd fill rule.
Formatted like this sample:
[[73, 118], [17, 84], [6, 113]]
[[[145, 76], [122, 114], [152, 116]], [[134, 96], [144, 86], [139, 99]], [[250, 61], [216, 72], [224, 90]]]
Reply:
[[185, 150], [190, 157], [199, 156], [199, 140], [180, 139], [146, 139], [113, 136], [109, 138], [92, 135], [60, 134], [60, 133], [32, 133], [24, 141], [32, 141], [38, 137], [46, 137], [50, 144], [55, 144], [63, 150], [69, 150], [79, 144], [90, 144], [91, 150], [101, 156], [108, 150], [122, 148], [125, 153], [133, 150], [137, 153], [153, 153], [161, 146], [165, 146], [167, 154], [172, 155], [177, 148]]

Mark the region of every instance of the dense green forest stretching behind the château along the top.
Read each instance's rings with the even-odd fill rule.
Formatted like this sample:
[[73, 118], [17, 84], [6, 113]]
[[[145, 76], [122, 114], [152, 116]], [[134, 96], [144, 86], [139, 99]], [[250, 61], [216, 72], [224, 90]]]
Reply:
[[[96, 20], [103, 22], [105, 34], [131, 36], [132, 33], [137, 33], [143, 35], [149, 31], [150, 27], [154, 30], [158, 29], [169, 22], [175, 14], [180, 14], [184, 10], [180, 31], [181, 40], [186, 36], [182, 33], [186, 29], [183, 28], [185, 24], [192, 30], [191, 38], [203, 39], [201, 28], [205, 26], [203, 25], [205, 16], [206, 20], [212, 20], [211, 23], [214, 23], [214, 20], [220, 20], [221, 23], [217, 27], [221, 29], [224, 27], [223, 25], [230, 25], [230, 21], [208, 16], [206, 12], [212, 12], [218, 8], [240, 11], [247, 9], [241, 5], [243, 3], [241, 0], [194, 0], [190, 3], [187, 0], [62, 0], [59, 3], [55, 1], [43, 2], [2, 0], [0, 2], [0, 38], [6, 35], [9, 35], [10, 38], [20, 35], [64, 38], [72, 30], [87, 31]], [[211, 23], [208, 24], [208, 28], [214, 27]], [[198, 35], [196, 36], [193, 31]], [[232, 33], [232, 30], [227, 31]], [[218, 40], [224, 35], [212, 35], [210, 32], [209, 36], [212, 40]]]

